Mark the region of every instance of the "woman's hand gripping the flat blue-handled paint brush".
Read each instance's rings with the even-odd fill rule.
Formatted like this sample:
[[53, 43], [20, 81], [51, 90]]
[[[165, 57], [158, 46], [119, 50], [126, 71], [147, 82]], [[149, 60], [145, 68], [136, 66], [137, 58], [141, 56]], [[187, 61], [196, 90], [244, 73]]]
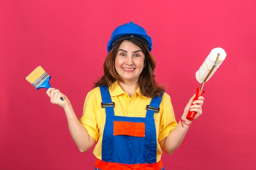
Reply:
[[[68, 105], [68, 103], [70, 102], [67, 98], [67, 96], [65, 96], [63, 93], [61, 93], [58, 89], [55, 88], [48, 88], [48, 90], [46, 91], [47, 95], [50, 97], [51, 102], [53, 104], [56, 104], [58, 106], [61, 106], [62, 108], [64, 108], [65, 106]], [[62, 99], [63, 100], [62, 100]]]

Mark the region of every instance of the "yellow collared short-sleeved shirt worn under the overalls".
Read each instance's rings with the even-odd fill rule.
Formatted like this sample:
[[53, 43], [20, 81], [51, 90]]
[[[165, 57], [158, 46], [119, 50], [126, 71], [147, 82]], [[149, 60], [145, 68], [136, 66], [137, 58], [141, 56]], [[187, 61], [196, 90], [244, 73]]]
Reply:
[[[132, 97], [125, 93], [118, 82], [114, 82], [110, 89], [112, 102], [115, 102], [114, 113], [117, 116], [126, 117], [146, 117], [146, 106], [150, 104], [151, 98], [141, 95], [139, 88]], [[99, 87], [92, 89], [85, 98], [83, 106], [83, 115], [80, 122], [83, 124], [88, 134], [95, 140], [98, 140], [93, 154], [101, 160], [101, 144], [103, 131], [106, 121], [105, 108], [101, 108], [101, 92]], [[162, 141], [177, 126], [171, 98], [164, 93], [162, 102], [159, 106], [159, 113], [155, 113], [155, 128], [158, 141]], [[157, 162], [160, 161], [162, 150], [157, 142]]]

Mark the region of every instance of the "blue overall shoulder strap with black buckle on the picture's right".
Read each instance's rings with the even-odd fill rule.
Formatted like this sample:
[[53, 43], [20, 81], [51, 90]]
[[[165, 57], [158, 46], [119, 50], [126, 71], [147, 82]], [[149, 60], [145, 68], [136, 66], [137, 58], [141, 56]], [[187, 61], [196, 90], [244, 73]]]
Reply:
[[160, 110], [159, 105], [162, 102], [162, 97], [163, 95], [159, 95], [151, 99], [150, 104], [146, 106], [146, 110], [147, 110], [146, 117], [154, 117], [155, 113], [159, 113], [159, 110]]

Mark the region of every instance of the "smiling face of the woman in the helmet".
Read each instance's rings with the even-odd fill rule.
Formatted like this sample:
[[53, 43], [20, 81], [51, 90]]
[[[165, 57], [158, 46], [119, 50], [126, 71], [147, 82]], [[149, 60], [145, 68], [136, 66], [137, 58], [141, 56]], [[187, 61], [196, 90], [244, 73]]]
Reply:
[[137, 83], [144, 68], [145, 55], [141, 49], [128, 40], [124, 40], [117, 51], [115, 69], [124, 83]]

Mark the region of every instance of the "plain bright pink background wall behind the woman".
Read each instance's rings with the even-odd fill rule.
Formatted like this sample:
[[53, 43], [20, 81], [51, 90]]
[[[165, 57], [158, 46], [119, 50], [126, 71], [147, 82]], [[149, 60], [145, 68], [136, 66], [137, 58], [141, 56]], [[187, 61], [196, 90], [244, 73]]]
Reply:
[[25, 77], [41, 65], [81, 117], [110, 34], [129, 21], [153, 39], [155, 75], [177, 120], [201, 86], [195, 72], [211, 49], [227, 53], [204, 86], [202, 117], [173, 155], [163, 155], [166, 170], [256, 169], [255, 0], [1, 0], [1, 170], [92, 170], [92, 150], [79, 152], [63, 110]]

